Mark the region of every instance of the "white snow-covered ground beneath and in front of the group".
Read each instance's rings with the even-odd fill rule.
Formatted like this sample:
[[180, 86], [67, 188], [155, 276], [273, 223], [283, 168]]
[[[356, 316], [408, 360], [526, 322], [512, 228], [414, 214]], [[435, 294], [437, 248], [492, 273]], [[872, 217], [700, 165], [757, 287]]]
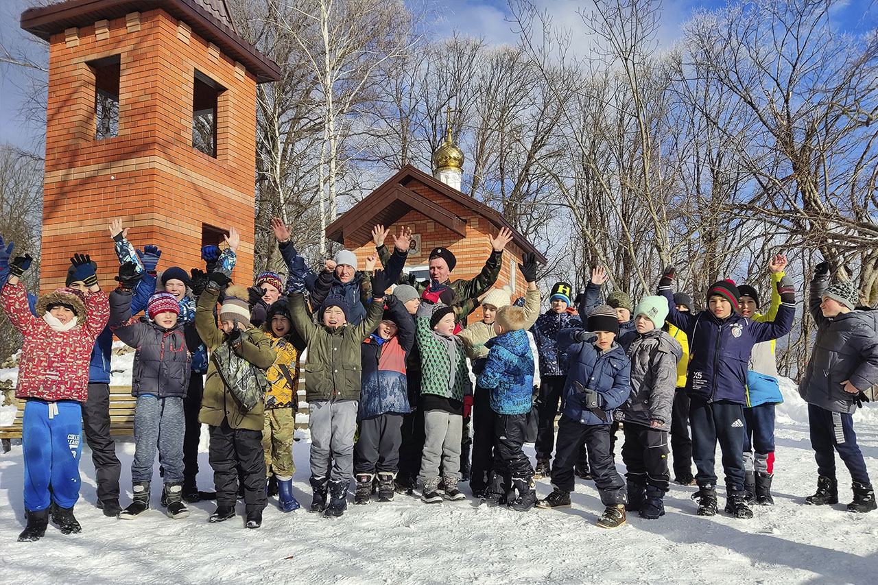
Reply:
[[[207, 524], [213, 502], [194, 504], [185, 520], [154, 510], [123, 522], [94, 507], [94, 468], [86, 450], [76, 506], [83, 532], [63, 536], [50, 526], [45, 538], [25, 544], [16, 542], [23, 527], [23, 466], [21, 447], [14, 446], [0, 456], [0, 582], [874, 584], [878, 512], [844, 511], [850, 478], [840, 462], [842, 503], [803, 504], [816, 481], [806, 409], [791, 383], [783, 391], [773, 508], [755, 507], [749, 521], [722, 512], [699, 517], [689, 499], [694, 488], [673, 485], [666, 516], [647, 521], [631, 515], [629, 525], [615, 531], [594, 525], [601, 504], [594, 485], [581, 480], [572, 509], [525, 514], [471, 500], [427, 505], [397, 495], [391, 503], [351, 503], [337, 520], [305, 509], [281, 514], [272, 498], [257, 531], [244, 529], [240, 516]], [[867, 466], [878, 477], [878, 408], [861, 409], [855, 421]], [[308, 436], [297, 431], [297, 437], [295, 494], [307, 504]], [[117, 451], [126, 505], [133, 444], [118, 444]], [[199, 482], [209, 488], [206, 453], [199, 463]], [[157, 473], [154, 481], [160, 485]], [[546, 495], [548, 480], [539, 480], [537, 490]], [[158, 500], [155, 489], [156, 507]]]

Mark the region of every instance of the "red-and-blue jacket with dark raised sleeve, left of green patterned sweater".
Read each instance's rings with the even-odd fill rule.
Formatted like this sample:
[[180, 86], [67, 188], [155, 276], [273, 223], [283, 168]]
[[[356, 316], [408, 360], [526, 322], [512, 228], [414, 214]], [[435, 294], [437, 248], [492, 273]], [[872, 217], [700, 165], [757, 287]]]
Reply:
[[385, 305], [385, 319], [396, 323], [397, 332], [384, 340], [376, 331], [363, 342], [357, 421], [386, 413], [404, 415], [412, 411], [408, 403], [406, 360], [414, 346], [414, 318], [392, 295], [385, 296]]

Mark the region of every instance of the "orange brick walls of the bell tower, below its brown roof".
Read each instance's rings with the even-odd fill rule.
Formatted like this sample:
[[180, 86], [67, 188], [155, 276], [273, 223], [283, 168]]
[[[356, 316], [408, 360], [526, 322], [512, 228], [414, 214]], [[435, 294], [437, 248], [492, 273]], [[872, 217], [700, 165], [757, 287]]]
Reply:
[[[241, 233], [236, 273], [253, 271], [255, 77], [164, 11], [53, 35], [49, 49], [42, 282], [63, 284], [68, 258], [89, 251], [104, 288], [118, 263], [106, 224], [121, 217], [161, 267], [200, 260], [202, 222]], [[95, 141], [87, 61], [119, 55], [119, 135]], [[219, 95], [217, 157], [191, 146], [195, 69]]]

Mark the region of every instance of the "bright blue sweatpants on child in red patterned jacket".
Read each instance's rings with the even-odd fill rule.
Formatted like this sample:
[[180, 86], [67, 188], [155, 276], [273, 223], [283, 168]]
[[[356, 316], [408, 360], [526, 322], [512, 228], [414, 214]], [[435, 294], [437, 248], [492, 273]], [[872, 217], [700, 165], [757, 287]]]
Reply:
[[[47, 509], [54, 501], [71, 508], [79, 499], [83, 454], [83, 409], [76, 401], [29, 400], [22, 419], [25, 509]], [[52, 491], [49, 491], [51, 486]]]

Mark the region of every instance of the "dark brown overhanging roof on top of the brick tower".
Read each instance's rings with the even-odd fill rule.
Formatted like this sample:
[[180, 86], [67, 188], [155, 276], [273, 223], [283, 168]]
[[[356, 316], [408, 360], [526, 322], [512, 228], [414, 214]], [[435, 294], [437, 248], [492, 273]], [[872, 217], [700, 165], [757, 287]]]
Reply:
[[230, 59], [241, 61], [255, 75], [257, 83], [280, 79], [277, 63], [235, 32], [225, 0], [68, 0], [22, 12], [21, 27], [48, 40], [51, 35], [68, 28], [82, 28], [103, 18], [111, 20], [122, 18], [129, 12], [154, 9], [183, 20], [193, 32], [215, 43]]

